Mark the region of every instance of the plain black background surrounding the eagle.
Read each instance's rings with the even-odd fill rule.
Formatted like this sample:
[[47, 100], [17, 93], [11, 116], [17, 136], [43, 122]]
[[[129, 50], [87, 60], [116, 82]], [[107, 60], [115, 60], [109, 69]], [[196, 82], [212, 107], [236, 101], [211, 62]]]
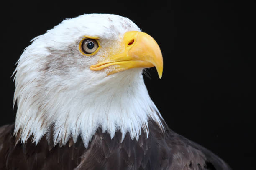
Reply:
[[1, 4], [1, 118], [15, 120], [15, 62], [33, 37], [84, 13], [130, 18], [158, 42], [164, 57], [145, 77], [148, 92], [169, 127], [212, 150], [234, 170], [256, 169], [252, 67], [255, 4], [193, 0], [70, 1]]

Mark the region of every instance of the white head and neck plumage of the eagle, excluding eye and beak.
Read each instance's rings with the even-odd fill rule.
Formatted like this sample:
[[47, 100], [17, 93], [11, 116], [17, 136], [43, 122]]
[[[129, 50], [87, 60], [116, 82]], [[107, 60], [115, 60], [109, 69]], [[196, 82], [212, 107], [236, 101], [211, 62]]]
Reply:
[[[149, 119], [163, 129], [142, 69], [107, 76], [89, 68], [117, 47], [127, 31], [140, 29], [128, 18], [90, 14], [66, 19], [31, 40], [15, 70], [18, 140], [25, 143], [32, 137], [37, 144], [52, 127], [54, 145], [66, 144], [71, 137], [75, 142], [80, 135], [87, 147], [99, 127], [111, 138], [120, 130], [123, 138], [129, 132], [136, 140], [141, 128], [148, 134]], [[102, 48], [97, 55], [79, 52], [84, 35], [99, 37]]]

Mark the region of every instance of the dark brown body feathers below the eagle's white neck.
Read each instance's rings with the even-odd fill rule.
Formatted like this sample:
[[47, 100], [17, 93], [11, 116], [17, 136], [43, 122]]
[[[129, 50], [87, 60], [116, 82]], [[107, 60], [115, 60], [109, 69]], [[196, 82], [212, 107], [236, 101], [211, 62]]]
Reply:
[[[113, 139], [101, 129], [88, 148], [79, 138], [73, 143], [53, 147], [46, 137], [35, 145], [15, 146], [14, 125], [0, 128], [0, 170], [230, 170], [216, 155], [169, 130], [162, 133], [149, 122], [149, 135], [139, 140], [126, 134], [123, 142], [117, 131]], [[28, 140], [30, 141], [30, 140]]]

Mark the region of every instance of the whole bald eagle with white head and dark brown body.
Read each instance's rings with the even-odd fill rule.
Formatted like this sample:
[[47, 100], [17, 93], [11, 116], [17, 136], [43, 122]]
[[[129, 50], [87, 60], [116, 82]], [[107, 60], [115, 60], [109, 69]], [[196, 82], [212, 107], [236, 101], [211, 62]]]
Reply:
[[128, 18], [63, 20], [31, 40], [14, 72], [15, 124], [0, 128], [1, 170], [230, 170], [169, 129], [143, 68], [163, 58]]

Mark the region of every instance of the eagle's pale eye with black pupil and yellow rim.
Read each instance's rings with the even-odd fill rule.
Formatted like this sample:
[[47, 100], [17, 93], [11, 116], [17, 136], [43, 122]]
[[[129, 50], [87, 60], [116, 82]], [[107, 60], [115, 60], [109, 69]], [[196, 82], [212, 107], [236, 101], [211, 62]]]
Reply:
[[94, 39], [84, 39], [82, 40], [82, 43], [80, 43], [80, 49], [82, 52], [87, 54], [92, 54], [99, 48], [98, 42]]

